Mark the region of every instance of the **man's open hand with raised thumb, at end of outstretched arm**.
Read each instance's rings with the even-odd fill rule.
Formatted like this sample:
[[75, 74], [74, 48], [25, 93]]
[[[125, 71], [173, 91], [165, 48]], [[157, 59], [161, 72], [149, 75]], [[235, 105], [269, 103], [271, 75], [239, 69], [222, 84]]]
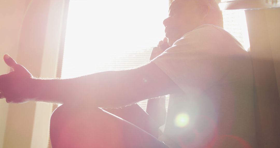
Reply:
[[7, 103], [25, 103], [29, 101], [33, 76], [8, 54], [4, 55], [4, 61], [13, 71], [0, 75], [0, 98], [6, 98]]

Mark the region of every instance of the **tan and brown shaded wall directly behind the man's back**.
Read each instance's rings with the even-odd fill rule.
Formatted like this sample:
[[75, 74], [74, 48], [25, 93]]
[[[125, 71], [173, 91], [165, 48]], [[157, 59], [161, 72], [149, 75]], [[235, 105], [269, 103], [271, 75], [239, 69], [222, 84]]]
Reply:
[[280, 147], [280, 8], [246, 10], [255, 77], [258, 147]]

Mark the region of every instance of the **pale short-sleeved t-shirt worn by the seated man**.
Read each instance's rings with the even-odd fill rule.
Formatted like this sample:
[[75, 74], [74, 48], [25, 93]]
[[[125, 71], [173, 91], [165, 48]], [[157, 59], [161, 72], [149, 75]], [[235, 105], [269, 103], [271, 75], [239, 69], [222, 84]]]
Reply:
[[255, 147], [251, 60], [232, 35], [204, 24], [151, 62], [183, 90], [170, 95], [169, 147]]

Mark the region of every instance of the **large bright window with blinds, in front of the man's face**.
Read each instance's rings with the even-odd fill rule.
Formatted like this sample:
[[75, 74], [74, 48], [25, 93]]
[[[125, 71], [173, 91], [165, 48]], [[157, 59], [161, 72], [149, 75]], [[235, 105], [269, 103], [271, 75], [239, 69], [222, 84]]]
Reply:
[[169, 0], [70, 0], [61, 78], [146, 64], [168, 10]]

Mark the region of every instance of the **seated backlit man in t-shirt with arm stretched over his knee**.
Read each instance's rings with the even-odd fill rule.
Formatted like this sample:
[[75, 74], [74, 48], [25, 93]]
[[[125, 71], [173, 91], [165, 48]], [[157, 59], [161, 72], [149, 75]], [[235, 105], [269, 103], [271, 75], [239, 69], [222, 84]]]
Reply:
[[[221, 28], [215, 1], [175, 0], [164, 26], [171, 47], [132, 70], [43, 80], [4, 55], [14, 71], [0, 76], [0, 98], [63, 103], [51, 119], [53, 147], [255, 147], [251, 61]], [[171, 95], [159, 140], [97, 108], [166, 94]]]

